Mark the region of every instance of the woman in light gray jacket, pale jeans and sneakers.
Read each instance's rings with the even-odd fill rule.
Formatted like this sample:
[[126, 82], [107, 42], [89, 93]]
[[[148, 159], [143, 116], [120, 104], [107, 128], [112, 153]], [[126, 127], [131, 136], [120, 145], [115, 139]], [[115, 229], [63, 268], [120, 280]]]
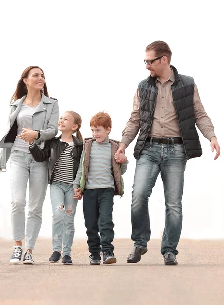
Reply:
[[[47, 189], [48, 162], [36, 162], [29, 141], [44, 147], [44, 141], [57, 134], [58, 101], [48, 97], [44, 72], [38, 66], [24, 70], [10, 103], [8, 131], [0, 141], [0, 168], [6, 170], [11, 156], [12, 233], [15, 240], [10, 262], [22, 259], [22, 240], [26, 238], [24, 264], [34, 264], [34, 249], [42, 222], [42, 205]], [[25, 232], [26, 188], [29, 180], [29, 207]]]

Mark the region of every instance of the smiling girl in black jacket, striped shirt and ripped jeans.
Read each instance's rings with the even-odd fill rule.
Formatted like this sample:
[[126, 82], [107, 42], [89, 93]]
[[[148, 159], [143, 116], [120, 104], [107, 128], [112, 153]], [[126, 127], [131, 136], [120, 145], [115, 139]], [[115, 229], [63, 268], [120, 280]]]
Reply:
[[[30, 141], [29, 145], [30, 152], [36, 161], [43, 162], [50, 158], [48, 182], [53, 212], [53, 254], [49, 258], [51, 263], [58, 263], [61, 259], [63, 240], [62, 263], [72, 264], [71, 247], [77, 205], [77, 199], [73, 199], [73, 181], [83, 150], [83, 138], [79, 131], [81, 123], [78, 113], [67, 111], [58, 121], [58, 129], [62, 132], [60, 137], [48, 141], [43, 150], [39, 149], [33, 141]], [[77, 137], [72, 135], [74, 132]]]

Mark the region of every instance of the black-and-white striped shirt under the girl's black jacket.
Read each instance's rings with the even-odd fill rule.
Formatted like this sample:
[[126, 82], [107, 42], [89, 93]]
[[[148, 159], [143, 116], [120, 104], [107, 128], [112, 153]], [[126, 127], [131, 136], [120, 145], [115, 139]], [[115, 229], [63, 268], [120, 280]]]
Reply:
[[[63, 142], [60, 139], [61, 142]], [[60, 158], [55, 164], [53, 181], [73, 185], [74, 181], [74, 159], [71, 157], [71, 151], [74, 143], [68, 143], [68, 146], [61, 153]]]

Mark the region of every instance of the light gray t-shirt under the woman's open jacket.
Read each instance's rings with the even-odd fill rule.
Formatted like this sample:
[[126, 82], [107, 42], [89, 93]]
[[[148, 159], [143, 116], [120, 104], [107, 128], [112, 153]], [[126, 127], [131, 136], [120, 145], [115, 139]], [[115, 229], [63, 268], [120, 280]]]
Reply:
[[[25, 103], [22, 103], [22, 107], [17, 115], [16, 121], [18, 125], [17, 135], [21, 135], [23, 128], [33, 129], [32, 125], [32, 116], [36, 112], [36, 107], [27, 106]], [[25, 142], [20, 138], [16, 138], [11, 151], [23, 151], [24, 153], [30, 153], [29, 151], [29, 142]]]

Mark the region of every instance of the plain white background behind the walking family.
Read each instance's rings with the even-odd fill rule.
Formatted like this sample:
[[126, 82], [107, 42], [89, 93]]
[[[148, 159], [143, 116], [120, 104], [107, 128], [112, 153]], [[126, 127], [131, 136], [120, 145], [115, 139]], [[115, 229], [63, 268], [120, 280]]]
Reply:
[[[223, 14], [219, 1], [5, 1], [1, 5], [1, 131], [9, 102], [23, 70], [40, 66], [48, 92], [60, 113], [78, 112], [81, 133], [91, 136], [89, 121], [106, 110], [113, 120], [110, 137], [120, 140], [130, 117], [138, 83], [148, 77], [145, 47], [166, 41], [180, 74], [194, 77], [201, 101], [224, 147]], [[183, 195], [182, 238], [224, 238], [223, 156], [214, 161], [200, 133], [203, 155], [188, 161]], [[115, 197], [115, 237], [131, 235], [133, 148], [124, 175], [125, 195]], [[0, 173], [0, 237], [11, 238], [10, 170]], [[28, 204], [27, 204], [28, 205]], [[27, 209], [27, 207], [26, 207]], [[150, 198], [151, 237], [160, 238], [165, 218], [160, 176]], [[49, 190], [43, 207], [42, 237], [51, 236]], [[82, 201], [76, 212], [76, 238], [86, 237]]]

